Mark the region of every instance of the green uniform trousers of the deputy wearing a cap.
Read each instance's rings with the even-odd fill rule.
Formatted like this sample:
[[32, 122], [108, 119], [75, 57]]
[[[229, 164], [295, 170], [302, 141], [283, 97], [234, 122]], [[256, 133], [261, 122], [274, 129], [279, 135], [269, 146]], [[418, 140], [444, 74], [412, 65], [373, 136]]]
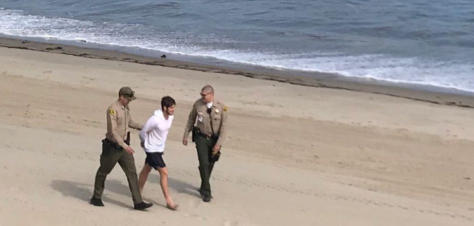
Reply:
[[117, 145], [112, 145], [107, 142], [102, 143], [101, 165], [96, 174], [94, 198], [102, 197], [105, 187], [105, 179], [118, 162], [123, 172], [125, 172], [125, 176], [127, 176], [128, 187], [132, 192], [133, 203], [140, 203], [143, 199], [141, 198], [140, 190], [138, 189], [135, 159], [132, 154], [127, 153], [125, 149], [120, 148]]

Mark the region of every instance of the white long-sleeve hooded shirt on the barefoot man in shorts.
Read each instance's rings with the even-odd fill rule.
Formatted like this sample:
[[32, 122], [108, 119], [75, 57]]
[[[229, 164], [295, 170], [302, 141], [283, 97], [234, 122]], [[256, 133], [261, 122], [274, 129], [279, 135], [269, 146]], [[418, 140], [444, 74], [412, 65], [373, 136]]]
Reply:
[[166, 120], [161, 109], [154, 111], [139, 133], [140, 141], [144, 143], [145, 152], [163, 152], [165, 150], [165, 141], [172, 122], [173, 115], [168, 116], [168, 120]]

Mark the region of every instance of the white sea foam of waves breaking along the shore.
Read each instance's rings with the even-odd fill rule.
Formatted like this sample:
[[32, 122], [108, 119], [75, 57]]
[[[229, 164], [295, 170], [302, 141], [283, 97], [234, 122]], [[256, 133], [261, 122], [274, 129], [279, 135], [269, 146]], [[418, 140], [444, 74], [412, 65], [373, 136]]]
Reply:
[[[147, 33], [148, 32], [148, 33]], [[27, 15], [18, 10], [0, 9], [0, 33], [12, 36], [87, 41], [139, 47], [162, 52], [214, 57], [238, 63], [302, 71], [335, 72], [342, 76], [369, 78], [396, 83], [431, 85], [474, 92], [474, 63], [437, 62], [420, 58], [387, 55], [345, 55], [343, 53], [256, 52], [203, 47], [189, 40], [189, 34], [156, 34], [142, 25], [94, 23], [67, 18]], [[207, 43], [232, 43], [210, 34], [198, 38]]]

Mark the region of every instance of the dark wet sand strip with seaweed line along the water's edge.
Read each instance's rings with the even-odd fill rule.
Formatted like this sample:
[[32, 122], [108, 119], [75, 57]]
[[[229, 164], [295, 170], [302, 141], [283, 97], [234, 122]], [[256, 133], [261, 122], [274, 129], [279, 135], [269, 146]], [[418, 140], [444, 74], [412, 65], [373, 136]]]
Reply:
[[[39, 41], [30, 41], [28, 39], [16, 39], [6, 37], [0, 37], [0, 47], [60, 53], [88, 58], [116, 60], [205, 72], [234, 74], [253, 79], [277, 81], [307, 87], [329, 88], [381, 94], [415, 101], [428, 102], [432, 104], [474, 108], [474, 96], [467, 95], [468, 92], [459, 91], [459, 93], [466, 94], [463, 95], [441, 91], [415, 89], [415, 87], [417, 87], [415, 85], [410, 87], [402, 87], [397, 86], [396, 84], [389, 84], [388, 82], [382, 81], [367, 81], [357, 78], [346, 78], [333, 73], [309, 73], [298, 71], [289, 72], [285, 70], [277, 70], [258, 66], [249, 66], [251, 69], [235, 69], [226, 66], [212, 66], [207, 64], [200, 64], [168, 58], [140, 56], [136, 54], [120, 52], [117, 50], [79, 47], [69, 44], [55, 44]], [[312, 76], [315, 75], [316, 78], [310, 78], [308, 76], [309, 74], [311, 74]], [[441, 90], [442, 88], [439, 89]]]

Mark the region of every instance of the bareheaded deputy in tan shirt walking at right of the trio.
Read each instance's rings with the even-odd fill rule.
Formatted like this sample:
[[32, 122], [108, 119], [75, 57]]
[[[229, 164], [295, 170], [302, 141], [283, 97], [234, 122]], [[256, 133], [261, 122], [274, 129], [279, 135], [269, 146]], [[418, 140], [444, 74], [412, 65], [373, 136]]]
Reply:
[[227, 107], [221, 101], [214, 100], [214, 89], [209, 85], [203, 87], [200, 94], [201, 98], [189, 113], [183, 144], [188, 145], [189, 132], [193, 131], [201, 174], [199, 193], [203, 201], [209, 202], [212, 198], [209, 178], [224, 142]]

